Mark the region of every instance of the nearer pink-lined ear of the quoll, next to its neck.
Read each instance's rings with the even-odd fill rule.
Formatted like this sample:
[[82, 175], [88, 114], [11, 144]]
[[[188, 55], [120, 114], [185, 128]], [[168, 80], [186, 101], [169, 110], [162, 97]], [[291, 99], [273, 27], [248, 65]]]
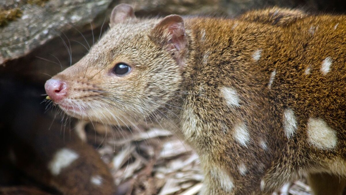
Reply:
[[166, 16], [153, 28], [152, 35], [158, 44], [174, 54], [178, 65], [183, 67], [189, 46], [183, 18], [178, 15]]

